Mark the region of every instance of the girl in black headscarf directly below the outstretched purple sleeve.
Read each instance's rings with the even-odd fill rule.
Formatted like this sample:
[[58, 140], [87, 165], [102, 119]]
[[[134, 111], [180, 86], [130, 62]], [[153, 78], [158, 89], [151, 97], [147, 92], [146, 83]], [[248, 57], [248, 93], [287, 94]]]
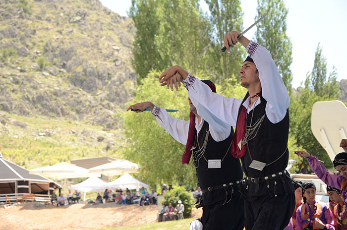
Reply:
[[340, 190], [327, 186], [329, 195], [329, 209], [333, 213], [334, 227], [336, 230], [347, 230], [346, 204], [342, 199]]

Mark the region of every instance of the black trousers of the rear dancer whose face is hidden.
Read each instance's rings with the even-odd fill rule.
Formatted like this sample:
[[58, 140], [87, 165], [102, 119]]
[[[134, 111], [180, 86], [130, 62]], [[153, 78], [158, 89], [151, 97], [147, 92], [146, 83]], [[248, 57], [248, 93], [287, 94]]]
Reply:
[[242, 230], [244, 227], [244, 203], [240, 197], [233, 197], [202, 208], [203, 230]]

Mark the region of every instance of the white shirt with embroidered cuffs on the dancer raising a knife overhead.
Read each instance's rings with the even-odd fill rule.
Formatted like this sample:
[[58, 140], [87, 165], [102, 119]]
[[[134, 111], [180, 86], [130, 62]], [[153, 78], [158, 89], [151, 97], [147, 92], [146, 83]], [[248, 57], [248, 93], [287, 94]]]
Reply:
[[[259, 71], [262, 97], [267, 101], [265, 107], [266, 115], [272, 123], [278, 123], [285, 117], [289, 107], [290, 99], [287, 88], [269, 51], [250, 41], [247, 53], [253, 58]], [[205, 112], [209, 112], [216, 117], [216, 121], [220, 120], [231, 126], [236, 126], [238, 109], [243, 99], [226, 98], [212, 93], [205, 83], [190, 74], [184, 80], [184, 86], [188, 90], [188, 95], [193, 105], [195, 106], [195, 103], [199, 103], [198, 106], [195, 106], [199, 115], [205, 116]], [[260, 100], [258, 99], [252, 108], [249, 108], [250, 98], [248, 97], [243, 106], [249, 113], [259, 104]]]

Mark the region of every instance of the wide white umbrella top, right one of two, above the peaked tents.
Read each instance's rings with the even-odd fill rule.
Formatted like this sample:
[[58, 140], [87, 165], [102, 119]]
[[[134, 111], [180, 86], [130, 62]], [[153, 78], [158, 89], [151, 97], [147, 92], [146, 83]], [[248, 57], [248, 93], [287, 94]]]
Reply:
[[139, 165], [127, 160], [116, 160], [104, 165], [89, 169], [91, 173], [101, 173], [106, 176], [121, 175], [123, 173], [138, 173]]

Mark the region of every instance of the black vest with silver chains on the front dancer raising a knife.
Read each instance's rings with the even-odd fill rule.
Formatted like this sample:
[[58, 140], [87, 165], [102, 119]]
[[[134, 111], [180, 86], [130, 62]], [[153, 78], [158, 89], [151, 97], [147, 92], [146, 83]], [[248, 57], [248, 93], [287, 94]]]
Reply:
[[[243, 99], [243, 102], [246, 100]], [[256, 130], [256, 136], [248, 141], [247, 150], [244, 157], [241, 158], [242, 170], [246, 177], [265, 177], [284, 171], [288, 166], [289, 151], [288, 151], [288, 135], [289, 135], [289, 112], [278, 123], [272, 123], [265, 112], [267, 101], [260, 97], [260, 104], [247, 114], [247, 126], [254, 123], [265, 114], [264, 120], [259, 129]], [[238, 115], [241, 112], [243, 105], [241, 104]], [[253, 116], [253, 118], [252, 118]], [[237, 128], [237, 127], [236, 127]], [[280, 157], [282, 155], [282, 157]], [[262, 171], [252, 169], [249, 167], [252, 160], [257, 160], [266, 164], [273, 164], [265, 166]], [[288, 174], [289, 175], [289, 174]], [[275, 186], [275, 181], [276, 185]], [[269, 185], [269, 186], [268, 186]], [[294, 192], [294, 187], [291, 180], [286, 174], [270, 179], [269, 182], [262, 182], [259, 184], [259, 190], [256, 191], [255, 183], [246, 180], [245, 189], [242, 191], [243, 197], [256, 197], [256, 196], [274, 196], [281, 194], [289, 194]], [[275, 194], [276, 193], [276, 194]]]

